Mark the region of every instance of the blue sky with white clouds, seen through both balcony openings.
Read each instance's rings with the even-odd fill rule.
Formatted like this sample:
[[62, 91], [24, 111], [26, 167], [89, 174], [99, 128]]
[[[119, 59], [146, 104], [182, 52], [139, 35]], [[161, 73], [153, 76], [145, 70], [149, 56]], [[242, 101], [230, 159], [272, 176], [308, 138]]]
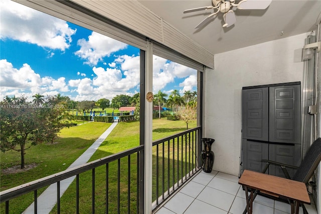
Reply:
[[[9, 0], [0, 1], [0, 93], [81, 100], [139, 92], [139, 49]], [[153, 92], [196, 90], [194, 69], [153, 57]]]

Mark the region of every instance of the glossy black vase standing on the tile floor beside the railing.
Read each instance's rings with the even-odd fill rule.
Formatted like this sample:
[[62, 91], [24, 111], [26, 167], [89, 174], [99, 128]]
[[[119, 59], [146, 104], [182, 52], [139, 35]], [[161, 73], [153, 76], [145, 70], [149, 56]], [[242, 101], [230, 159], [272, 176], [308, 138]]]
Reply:
[[203, 171], [212, 172], [214, 164], [214, 152], [212, 151], [212, 144], [215, 140], [212, 138], [202, 138], [201, 141], [204, 144], [204, 150], [202, 150]]

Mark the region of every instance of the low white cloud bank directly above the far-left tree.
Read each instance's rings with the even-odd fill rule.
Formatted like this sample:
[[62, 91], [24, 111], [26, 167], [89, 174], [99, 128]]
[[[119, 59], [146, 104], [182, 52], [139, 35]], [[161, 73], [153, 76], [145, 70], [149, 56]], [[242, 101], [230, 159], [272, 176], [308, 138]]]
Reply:
[[25, 63], [19, 69], [6, 59], [0, 60], [0, 85], [1, 95], [18, 94], [57, 94], [58, 91], [68, 91], [65, 77], [54, 79], [52, 77], [41, 77], [29, 64]]

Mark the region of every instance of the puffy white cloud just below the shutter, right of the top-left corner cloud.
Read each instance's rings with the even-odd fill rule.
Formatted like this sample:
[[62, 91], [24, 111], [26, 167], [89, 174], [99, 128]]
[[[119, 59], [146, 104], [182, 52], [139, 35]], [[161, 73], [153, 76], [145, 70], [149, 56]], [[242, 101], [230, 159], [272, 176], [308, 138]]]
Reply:
[[88, 40], [78, 40], [77, 44], [80, 46], [80, 49], [75, 52], [75, 55], [85, 59], [85, 64], [89, 65], [96, 65], [103, 57], [110, 56], [111, 53], [127, 47], [125, 43], [96, 32], [92, 32]]

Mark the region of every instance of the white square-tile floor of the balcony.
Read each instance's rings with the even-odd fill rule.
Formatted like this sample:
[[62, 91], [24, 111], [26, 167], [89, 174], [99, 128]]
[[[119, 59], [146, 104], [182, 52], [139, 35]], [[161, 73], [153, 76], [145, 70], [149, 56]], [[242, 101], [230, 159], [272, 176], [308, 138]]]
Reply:
[[[234, 175], [202, 171], [155, 213], [242, 213], [246, 205], [245, 191], [238, 180]], [[314, 204], [306, 204], [305, 207], [309, 214], [317, 213]], [[257, 195], [253, 203], [253, 213], [290, 212], [289, 204], [261, 195]], [[303, 213], [301, 207], [300, 213]]]

